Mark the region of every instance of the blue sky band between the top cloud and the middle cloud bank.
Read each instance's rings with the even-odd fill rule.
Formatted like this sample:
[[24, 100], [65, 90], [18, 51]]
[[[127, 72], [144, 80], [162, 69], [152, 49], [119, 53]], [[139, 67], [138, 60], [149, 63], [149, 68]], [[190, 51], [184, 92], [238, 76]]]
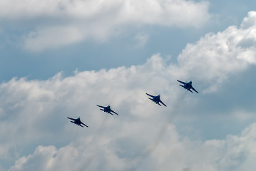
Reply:
[[[31, 11], [31, 14], [27, 14], [28, 16], [18, 17], [15, 14], [11, 15], [10, 10], [10, 14], [6, 12], [1, 15], [0, 48], [1, 56], [3, 56], [1, 57], [1, 73], [6, 73], [1, 76], [1, 81], [9, 81], [14, 76], [47, 79], [59, 71], [70, 75], [76, 68], [85, 71], [138, 65], [145, 63], [145, 60], [153, 53], [171, 55], [175, 61], [187, 43], [198, 41], [206, 33], [217, 33], [227, 26], [240, 25], [247, 12], [255, 7], [253, 1], [225, 1], [225, 3], [209, 1], [208, 4], [207, 14], [211, 16], [211, 19], [204, 22], [202, 26], [128, 24], [128, 26], [118, 28], [122, 29], [122, 33], [118, 35], [112, 33], [104, 41], [84, 38], [65, 46], [49, 46], [39, 52], [24, 48], [24, 36], [37, 31], [36, 28], [53, 25], [54, 19], [47, 18], [47, 15], [50, 15], [48, 11], [45, 11], [45, 14], [41, 12], [39, 16], [35, 16], [36, 11]], [[66, 15], [58, 16], [54, 21], [65, 20]], [[147, 39], [143, 46], [139, 45], [139, 40], [136, 39], [138, 35]]]

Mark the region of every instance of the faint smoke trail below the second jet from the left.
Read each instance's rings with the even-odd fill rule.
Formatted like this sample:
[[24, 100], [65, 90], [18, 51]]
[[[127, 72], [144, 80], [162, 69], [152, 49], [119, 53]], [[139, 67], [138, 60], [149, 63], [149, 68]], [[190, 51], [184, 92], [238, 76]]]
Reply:
[[[105, 127], [106, 124], [106, 120], [108, 118], [108, 115], [105, 116], [105, 118], [103, 119], [100, 128], [98, 129], [97, 133], [95, 134], [95, 136], [93, 137], [93, 139], [91, 140], [91, 142], [93, 142], [94, 144], [97, 144], [98, 139], [101, 137], [101, 134], [103, 133], [103, 128]], [[91, 163], [93, 162], [94, 158], [96, 157], [96, 155], [98, 154], [98, 150], [99, 148], [96, 147], [96, 149], [94, 149], [93, 154], [91, 154], [90, 157], [88, 157], [87, 160], [87, 164], [85, 165], [84, 169], [87, 170], [88, 167], [90, 167]]]

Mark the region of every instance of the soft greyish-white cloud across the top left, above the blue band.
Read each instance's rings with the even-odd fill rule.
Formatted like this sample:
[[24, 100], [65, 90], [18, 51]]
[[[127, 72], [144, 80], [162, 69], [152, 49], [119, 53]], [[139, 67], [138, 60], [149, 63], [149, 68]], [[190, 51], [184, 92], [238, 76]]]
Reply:
[[32, 25], [29, 33], [24, 32], [24, 48], [29, 51], [88, 38], [105, 41], [127, 26], [200, 27], [210, 18], [206, 1], [11, 0], [1, 1], [0, 6], [0, 19], [6, 24], [23, 21], [23, 25]]

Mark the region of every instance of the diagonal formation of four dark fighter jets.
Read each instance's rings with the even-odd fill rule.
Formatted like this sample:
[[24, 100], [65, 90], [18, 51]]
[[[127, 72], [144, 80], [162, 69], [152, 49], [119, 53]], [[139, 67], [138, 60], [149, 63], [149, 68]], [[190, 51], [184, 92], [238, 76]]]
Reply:
[[[192, 81], [189, 81], [189, 82], [183, 82], [183, 81], [179, 81], [179, 80], [177, 80], [177, 81], [183, 84], [183, 85], [180, 84], [181, 87], [185, 88], [186, 90], [189, 90], [191, 93], [193, 93], [192, 90], [194, 90], [196, 93], [198, 93], [198, 91], [195, 90], [195, 88], [193, 88]], [[190, 90], [190, 89], [192, 89], [192, 90]], [[167, 107], [167, 105], [165, 105], [165, 103], [163, 103], [163, 101], [160, 100], [160, 95], [150, 95], [148, 93], [145, 93], [145, 94], [149, 95], [150, 96], [149, 99], [152, 100], [154, 103], [156, 103], [156, 104], [158, 104], [160, 106], [164, 105], [165, 107]], [[108, 106], [97, 105], [97, 106], [100, 107], [100, 110], [103, 110], [103, 112], [109, 113], [111, 115], [113, 115], [113, 113], [118, 115], [118, 113], [116, 113], [115, 111], [113, 111], [111, 109], [111, 105], [108, 105]], [[78, 117], [76, 119], [74, 119], [74, 118], [68, 118], [68, 119], [72, 120], [71, 123], [74, 123], [74, 124], [76, 124], [78, 126], [81, 126], [81, 127], [83, 127], [83, 125], [84, 125], [84, 126], [86, 126], [88, 128], [88, 125], [82, 123], [82, 121], [80, 120], [80, 117]]]

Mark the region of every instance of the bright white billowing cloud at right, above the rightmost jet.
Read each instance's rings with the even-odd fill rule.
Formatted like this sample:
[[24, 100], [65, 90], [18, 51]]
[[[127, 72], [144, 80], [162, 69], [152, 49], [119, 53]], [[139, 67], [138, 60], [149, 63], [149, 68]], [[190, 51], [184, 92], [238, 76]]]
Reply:
[[228, 73], [237, 73], [250, 64], [255, 65], [255, 21], [255, 11], [251, 11], [239, 28], [230, 26], [216, 34], [208, 33], [195, 44], [189, 43], [178, 56], [180, 67], [185, 68], [184, 74], [193, 73], [201, 80], [216, 82], [208, 89], [214, 91]]

